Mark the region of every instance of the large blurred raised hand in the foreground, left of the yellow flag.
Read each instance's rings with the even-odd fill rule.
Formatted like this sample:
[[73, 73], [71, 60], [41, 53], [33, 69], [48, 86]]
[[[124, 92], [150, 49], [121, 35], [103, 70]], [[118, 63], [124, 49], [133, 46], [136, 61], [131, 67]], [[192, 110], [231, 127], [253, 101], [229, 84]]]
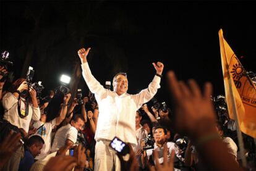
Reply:
[[177, 81], [174, 72], [168, 73], [168, 82], [174, 99], [176, 130], [179, 133], [194, 136], [200, 129], [198, 123], [215, 122], [215, 111], [210, 100], [212, 92], [210, 83], [205, 84], [202, 93], [195, 80], [189, 80], [187, 86], [183, 81]]

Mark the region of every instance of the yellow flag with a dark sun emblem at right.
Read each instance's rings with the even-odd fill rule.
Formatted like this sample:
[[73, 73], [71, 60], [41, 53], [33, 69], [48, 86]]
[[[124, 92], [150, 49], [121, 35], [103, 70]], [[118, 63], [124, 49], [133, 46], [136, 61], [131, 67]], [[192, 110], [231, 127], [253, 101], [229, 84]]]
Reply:
[[[219, 31], [219, 38], [229, 117], [235, 119], [233, 111], [235, 108], [233, 107], [236, 107], [241, 131], [256, 138], [256, 86], [247, 75], [236, 54], [224, 40], [222, 30]], [[236, 101], [236, 105], [231, 102], [232, 97]]]

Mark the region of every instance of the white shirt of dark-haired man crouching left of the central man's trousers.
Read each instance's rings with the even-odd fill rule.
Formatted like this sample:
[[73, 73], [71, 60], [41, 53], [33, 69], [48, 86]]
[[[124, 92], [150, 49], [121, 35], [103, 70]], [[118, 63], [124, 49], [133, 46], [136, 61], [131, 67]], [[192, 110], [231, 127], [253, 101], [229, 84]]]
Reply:
[[59, 148], [65, 146], [67, 140], [72, 141], [74, 144], [77, 142], [77, 129], [72, 127], [70, 124], [59, 128], [56, 132], [51, 152], [58, 151]]

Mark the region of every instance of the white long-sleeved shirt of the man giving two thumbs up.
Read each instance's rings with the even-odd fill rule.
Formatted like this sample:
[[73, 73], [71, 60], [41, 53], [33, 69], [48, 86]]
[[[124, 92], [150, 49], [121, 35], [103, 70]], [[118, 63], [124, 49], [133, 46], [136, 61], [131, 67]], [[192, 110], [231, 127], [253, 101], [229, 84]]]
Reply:
[[135, 114], [145, 102], [150, 101], [160, 88], [161, 78], [155, 76], [148, 88], [139, 94], [124, 93], [121, 96], [114, 91], [106, 90], [93, 77], [88, 63], [81, 65], [83, 78], [92, 93], [95, 93], [99, 105], [99, 116], [95, 140], [113, 140], [117, 136], [124, 142], [137, 144], [135, 136]]

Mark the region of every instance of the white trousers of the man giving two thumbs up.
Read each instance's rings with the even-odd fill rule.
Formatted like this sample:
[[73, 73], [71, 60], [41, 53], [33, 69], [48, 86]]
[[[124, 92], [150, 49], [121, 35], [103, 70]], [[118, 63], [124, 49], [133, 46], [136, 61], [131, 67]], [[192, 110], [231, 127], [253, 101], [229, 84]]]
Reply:
[[109, 147], [110, 141], [100, 140], [95, 145], [95, 171], [120, 171], [121, 164], [116, 151]]

